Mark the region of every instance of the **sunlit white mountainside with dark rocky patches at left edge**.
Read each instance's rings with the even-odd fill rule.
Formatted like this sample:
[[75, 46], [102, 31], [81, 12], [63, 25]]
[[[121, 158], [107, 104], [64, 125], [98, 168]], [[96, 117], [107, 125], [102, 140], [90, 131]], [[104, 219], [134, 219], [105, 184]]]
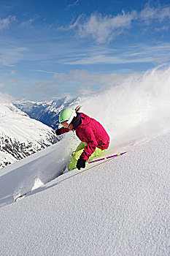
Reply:
[[0, 104], [0, 136], [0, 168], [58, 141], [53, 129], [12, 103]]

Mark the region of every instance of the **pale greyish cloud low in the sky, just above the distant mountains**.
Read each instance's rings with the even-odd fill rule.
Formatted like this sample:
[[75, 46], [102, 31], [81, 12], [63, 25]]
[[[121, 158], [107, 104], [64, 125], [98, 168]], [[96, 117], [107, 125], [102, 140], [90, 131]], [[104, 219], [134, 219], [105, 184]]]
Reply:
[[[70, 91], [72, 95], [90, 95], [96, 91], [104, 91], [110, 86], [116, 85], [127, 75], [110, 73], [99, 74], [98, 72], [88, 72], [86, 69], [71, 70], [68, 73], [55, 73], [49, 83], [39, 82], [29, 92], [40, 92], [42, 95], [59, 96], [63, 91]], [[64, 90], [63, 90], [64, 89]]]

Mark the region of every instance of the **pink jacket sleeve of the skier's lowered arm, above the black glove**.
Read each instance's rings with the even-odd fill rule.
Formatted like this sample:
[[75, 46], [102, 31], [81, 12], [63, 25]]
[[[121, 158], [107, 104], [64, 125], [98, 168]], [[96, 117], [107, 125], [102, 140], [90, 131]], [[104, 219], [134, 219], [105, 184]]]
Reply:
[[91, 154], [93, 154], [93, 152], [95, 151], [96, 147], [98, 146], [98, 143], [95, 138], [95, 135], [93, 134], [92, 129], [85, 129], [85, 138], [85, 142], [88, 143], [88, 145], [85, 146], [80, 158], [85, 159], [87, 161]]

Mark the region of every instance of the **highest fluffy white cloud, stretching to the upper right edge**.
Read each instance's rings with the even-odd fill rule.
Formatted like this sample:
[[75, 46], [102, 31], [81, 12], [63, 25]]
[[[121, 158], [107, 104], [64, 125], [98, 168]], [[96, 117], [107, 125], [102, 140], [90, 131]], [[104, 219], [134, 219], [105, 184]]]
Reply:
[[123, 11], [117, 15], [93, 13], [90, 17], [80, 15], [69, 26], [61, 26], [58, 29], [63, 31], [75, 29], [79, 37], [92, 37], [96, 42], [104, 43], [115, 39], [127, 29], [131, 29], [132, 23], [136, 23], [138, 26], [149, 26], [153, 21], [162, 23], [166, 19], [170, 19], [170, 7], [155, 8], [147, 4], [140, 12], [136, 10]]

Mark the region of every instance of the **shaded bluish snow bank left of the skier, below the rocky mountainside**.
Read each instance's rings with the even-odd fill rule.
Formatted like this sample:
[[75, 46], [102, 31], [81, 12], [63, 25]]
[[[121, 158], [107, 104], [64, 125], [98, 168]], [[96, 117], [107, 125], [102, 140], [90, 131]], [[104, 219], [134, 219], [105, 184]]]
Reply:
[[67, 134], [61, 142], [4, 167], [0, 172], [0, 206], [14, 202], [16, 197], [63, 173], [73, 151], [70, 140], [75, 148], [77, 138], [73, 133]]

